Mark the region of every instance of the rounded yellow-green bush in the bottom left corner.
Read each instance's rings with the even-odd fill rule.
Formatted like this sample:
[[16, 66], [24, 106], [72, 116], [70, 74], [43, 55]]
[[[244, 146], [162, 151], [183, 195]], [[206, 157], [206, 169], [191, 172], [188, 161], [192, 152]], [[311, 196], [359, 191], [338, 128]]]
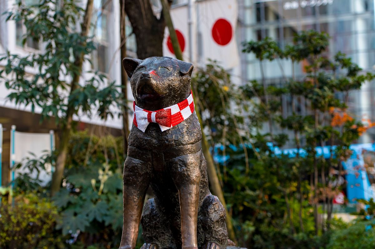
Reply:
[[57, 207], [34, 193], [18, 195], [13, 205], [0, 206], [0, 240], [4, 248], [64, 248], [54, 233]]

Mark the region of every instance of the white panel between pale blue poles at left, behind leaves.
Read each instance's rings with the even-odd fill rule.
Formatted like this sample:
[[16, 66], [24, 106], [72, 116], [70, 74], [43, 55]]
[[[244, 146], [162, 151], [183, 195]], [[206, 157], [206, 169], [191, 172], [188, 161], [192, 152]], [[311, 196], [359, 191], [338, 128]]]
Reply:
[[[25, 157], [35, 159], [43, 156], [46, 153], [51, 153], [51, 142], [54, 144], [54, 136], [50, 133], [28, 133], [18, 132], [14, 133], [14, 156], [12, 160], [15, 163], [22, 162]], [[35, 157], [30, 154], [35, 154]], [[39, 173], [39, 180], [42, 181], [42, 185], [47, 184], [51, 181], [51, 165], [45, 165], [46, 170]], [[15, 170], [15, 178], [21, 173], [29, 173], [31, 177], [36, 177], [37, 172], [29, 172], [27, 169]]]

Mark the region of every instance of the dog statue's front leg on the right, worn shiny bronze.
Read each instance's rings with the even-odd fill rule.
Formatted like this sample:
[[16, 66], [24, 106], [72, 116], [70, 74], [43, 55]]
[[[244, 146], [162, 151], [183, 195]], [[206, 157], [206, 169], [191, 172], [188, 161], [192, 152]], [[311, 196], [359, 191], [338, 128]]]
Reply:
[[182, 249], [197, 249], [200, 151], [172, 159], [172, 177], [180, 197]]

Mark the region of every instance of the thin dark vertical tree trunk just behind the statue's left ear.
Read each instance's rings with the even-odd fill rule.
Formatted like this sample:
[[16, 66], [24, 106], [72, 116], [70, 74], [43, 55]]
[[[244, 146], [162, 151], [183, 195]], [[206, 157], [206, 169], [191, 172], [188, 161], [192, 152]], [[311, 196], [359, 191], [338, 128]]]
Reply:
[[[121, 59], [126, 58], [126, 33], [125, 33], [125, 8], [124, 0], [120, 0], [120, 35], [121, 35]], [[121, 67], [121, 92], [125, 100], [122, 108], [122, 132], [123, 132], [123, 156], [127, 154], [127, 139], [129, 136], [129, 116], [127, 114], [127, 73], [122, 66]]]

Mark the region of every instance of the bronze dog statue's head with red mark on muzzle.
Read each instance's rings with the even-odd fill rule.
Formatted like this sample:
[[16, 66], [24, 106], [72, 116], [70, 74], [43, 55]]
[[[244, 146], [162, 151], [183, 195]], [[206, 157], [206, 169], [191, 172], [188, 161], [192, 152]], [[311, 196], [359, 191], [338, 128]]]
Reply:
[[190, 95], [193, 64], [170, 57], [144, 60], [124, 58], [135, 104], [155, 111], [183, 101]]

